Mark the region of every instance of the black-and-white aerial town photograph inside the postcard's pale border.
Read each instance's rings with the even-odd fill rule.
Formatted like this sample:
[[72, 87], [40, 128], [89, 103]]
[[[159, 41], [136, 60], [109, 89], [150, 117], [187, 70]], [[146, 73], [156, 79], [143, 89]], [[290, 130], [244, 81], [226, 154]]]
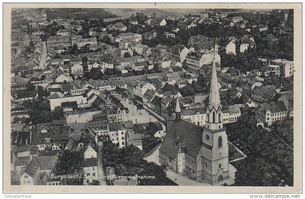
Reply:
[[10, 185], [294, 186], [294, 9], [12, 8], [10, 34]]

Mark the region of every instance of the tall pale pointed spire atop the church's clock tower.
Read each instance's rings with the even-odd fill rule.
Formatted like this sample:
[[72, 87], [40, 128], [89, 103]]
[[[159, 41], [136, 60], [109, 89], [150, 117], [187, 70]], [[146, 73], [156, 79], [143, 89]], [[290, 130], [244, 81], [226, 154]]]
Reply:
[[212, 76], [211, 76], [211, 87], [210, 87], [210, 97], [209, 97], [209, 105], [220, 105], [220, 97], [219, 97], [219, 89], [218, 89], [218, 81], [217, 81], [217, 73], [216, 73], [216, 64], [215, 64], [215, 52], [213, 57], [213, 68], [212, 68]]

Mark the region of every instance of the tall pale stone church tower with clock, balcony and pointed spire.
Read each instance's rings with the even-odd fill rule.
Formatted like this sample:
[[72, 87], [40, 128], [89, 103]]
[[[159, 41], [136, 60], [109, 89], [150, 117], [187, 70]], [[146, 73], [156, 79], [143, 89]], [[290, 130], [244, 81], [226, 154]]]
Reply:
[[206, 127], [202, 136], [203, 178], [210, 184], [229, 178], [228, 141], [223, 127], [222, 106], [219, 97], [215, 58], [211, 76], [209, 105], [206, 109]]

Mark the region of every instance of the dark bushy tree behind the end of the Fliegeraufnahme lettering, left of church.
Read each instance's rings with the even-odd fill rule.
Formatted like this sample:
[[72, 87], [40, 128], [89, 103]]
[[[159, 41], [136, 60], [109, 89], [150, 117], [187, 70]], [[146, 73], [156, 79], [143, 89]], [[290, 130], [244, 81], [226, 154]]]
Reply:
[[140, 172], [141, 176], [154, 176], [154, 179], [140, 179], [139, 185], [141, 186], [164, 186], [168, 185], [166, 179], [166, 166], [159, 166], [154, 162], [147, 163], [143, 171]]

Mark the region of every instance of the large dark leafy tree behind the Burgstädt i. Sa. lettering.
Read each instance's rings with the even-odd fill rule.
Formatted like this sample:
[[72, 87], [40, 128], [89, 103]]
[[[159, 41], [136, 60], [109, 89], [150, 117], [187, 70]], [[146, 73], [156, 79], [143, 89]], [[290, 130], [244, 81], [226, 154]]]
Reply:
[[[83, 174], [84, 153], [81, 151], [63, 150], [54, 167], [54, 175]], [[63, 185], [83, 185], [82, 178], [62, 179]]]

